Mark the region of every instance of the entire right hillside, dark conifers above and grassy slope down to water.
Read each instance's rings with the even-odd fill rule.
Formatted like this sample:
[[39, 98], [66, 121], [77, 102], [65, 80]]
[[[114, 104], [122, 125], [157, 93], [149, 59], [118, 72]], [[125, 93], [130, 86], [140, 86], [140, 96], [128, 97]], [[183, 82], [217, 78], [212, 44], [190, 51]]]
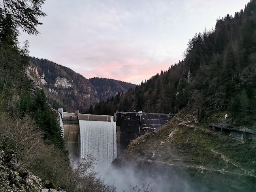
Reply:
[[125, 178], [149, 174], [154, 191], [255, 191], [256, 0], [195, 34], [183, 61], [89, 112], [134, 109], [175, 117], [113, 161]]

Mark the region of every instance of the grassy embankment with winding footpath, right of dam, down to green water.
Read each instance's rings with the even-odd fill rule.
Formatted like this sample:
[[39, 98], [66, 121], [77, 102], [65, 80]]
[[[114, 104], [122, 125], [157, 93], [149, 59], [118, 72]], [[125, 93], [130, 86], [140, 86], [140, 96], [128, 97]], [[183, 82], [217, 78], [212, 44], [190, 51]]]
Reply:
[[[195, 122], [192, 113], [179, 113], [159, 131], [132, 141], [113, 166], [125, 170], [134, 164], [137, 173], [151, 175], [152, 188], [162, 191], [186, 191], [184, 186], [176, 186], [180, 178], [190, 191], [239, 192], [256, 190], [255, 160], [255, 141], [222, 135]], [[163, 190], [164, 186], [154, 183], [157, 175], [169, 188]]]

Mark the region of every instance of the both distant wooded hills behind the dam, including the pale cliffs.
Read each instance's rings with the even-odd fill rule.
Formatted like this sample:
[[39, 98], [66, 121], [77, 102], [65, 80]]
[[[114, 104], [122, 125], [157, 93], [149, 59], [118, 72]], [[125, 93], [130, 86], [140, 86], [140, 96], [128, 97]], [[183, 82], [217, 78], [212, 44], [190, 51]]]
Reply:
[[64, 111], [85, 113], [90, 105], [136, 86], [113, 79], [86, 79], [70, 68], [36, 57], [30, 57], [28, 69], [34, 81], [45, 90], [52, 107]]

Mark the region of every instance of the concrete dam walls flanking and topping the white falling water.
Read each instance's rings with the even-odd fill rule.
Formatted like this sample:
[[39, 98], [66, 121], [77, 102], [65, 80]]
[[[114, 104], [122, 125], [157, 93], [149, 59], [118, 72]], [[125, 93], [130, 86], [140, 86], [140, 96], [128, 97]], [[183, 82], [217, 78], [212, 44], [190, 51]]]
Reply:
[[[117, 153], [114, 154], [114, 156], [120, 156], [124, 153], [124, 150], [132, 140], [160, 129], [173, 118], [172, 114], [144, 113], [142, 111], [117, 111], [114, 116], [88, 115], [81, 114], [79, 111], [68, 113], [64, 112], [63, 109], [58, 109], [58, 111], [63, 122], [64, 140], [70, 152], [70, 157], [73, 159], [80, 159], [81, 152], [84, 150], [81, 149], [81, 143], [83, 143], [81, 142], [81, 121], [111, 122], [112, 119], [112, 121], [115, 122], [115, 125], [112, 123], [112, 126], [116, 126], [116, 141], [113, 141], [113, 143], [116, 143], [116, 149], [113, 149], [113, 152], [116, 151]], [[88, 126], [89, 124], [87, 127]], [[100, 137], [98, 138], [100, 139]], [[89, 137], [87, 137], [87, 139], [89, 139]]]

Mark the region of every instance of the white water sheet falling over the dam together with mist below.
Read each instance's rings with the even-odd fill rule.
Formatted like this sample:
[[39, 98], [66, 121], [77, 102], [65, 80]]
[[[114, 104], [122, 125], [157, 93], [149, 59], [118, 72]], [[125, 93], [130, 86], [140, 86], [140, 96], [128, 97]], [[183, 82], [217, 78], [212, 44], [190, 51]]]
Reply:
[[152, 192], [193, 191], [188, 181], [177, 176], [171, 169], [157, 164], [140, 164], [126, 161], [121, 168], [111, 165], [117, 157], [116, 123], [109, 121], [79, 120], [81, 158], [95, 158], [94, 171], [106, 184], [115, 185], [117, 192], [129, 191], [130, 186], [141, 189], [150, 183]]

